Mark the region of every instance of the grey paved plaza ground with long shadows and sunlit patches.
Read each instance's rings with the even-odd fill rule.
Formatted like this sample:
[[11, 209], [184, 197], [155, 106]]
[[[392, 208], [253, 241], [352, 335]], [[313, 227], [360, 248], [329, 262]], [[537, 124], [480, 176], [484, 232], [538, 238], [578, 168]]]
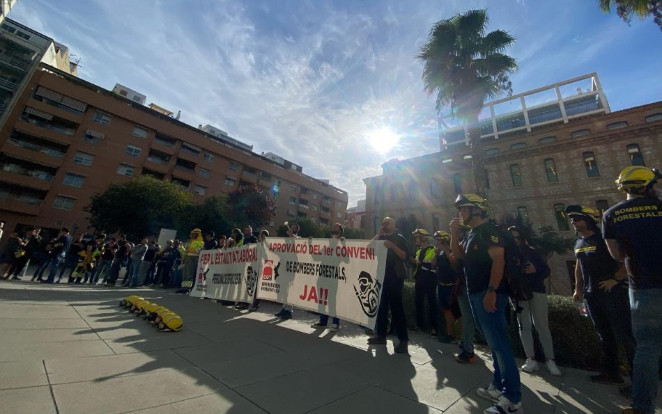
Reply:
[[[182, 315], [160, 333], [118, 308], [140, 294]], [[411, 334], [410, 356], [368, 347], [353, 324], [238, 312], [162, 289], [0, 282], [0, 413], [466, 413], [491, 405], [491, 362], [455, 362], [456, 346]], [[628, 401], [590, 372], [522, 374], [528, 413], [617, 413]], [[662, 394], [662, 393], [661, 393]], [[662, 406], [660, 404], [659, 406]], [[662, 412], [662, 410], [660, 410]]]

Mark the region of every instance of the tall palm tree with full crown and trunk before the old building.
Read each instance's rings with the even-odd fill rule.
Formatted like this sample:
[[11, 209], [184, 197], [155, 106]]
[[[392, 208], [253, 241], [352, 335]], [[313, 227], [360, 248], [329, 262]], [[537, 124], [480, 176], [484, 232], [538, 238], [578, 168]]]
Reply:
[[476, 192], [485, 196], [478, 116], [486, 98], [512, 93], [509, 74], [514, 58], [503, 54], [515, 38], [502, 30], [486, 33], [486, 10], [469, 10], [432, 25], [428, 41], [416, 56], [424, 63], [423, 87], [437, 95], [437, 113], [449, 108], [468, 125]]

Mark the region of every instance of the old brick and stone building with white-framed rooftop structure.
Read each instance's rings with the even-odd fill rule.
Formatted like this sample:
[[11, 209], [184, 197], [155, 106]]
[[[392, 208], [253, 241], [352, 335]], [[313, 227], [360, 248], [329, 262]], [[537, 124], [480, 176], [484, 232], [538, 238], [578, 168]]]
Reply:
[[[622, 168], [662, 165], [662, 102], [610, 112], [596, 75], [578, 79], [592, 79], [594, 88], [529, 107], [525, 97], [558, 92], [577, 79], [516, 95], [512, 99], [521, 98], [523, 109], [501, 116], [495, 115], [493, 103], [486, 105], [482, 145], [493, 217], [519, 214], [536, 230], [551, 225], [563, 237], [574, 238], [560, 214], [565, 206], [607, 209], [624, 198], [614, 184]], [[534, 118], [532, 113], [548, 115]], [[449, 128], [441, 138], [440, 152], [387, 161], [383, 175], [364, 179], [366, 234], [375, 234], [384, 216], [411, 218], [430, 231], [447, 230], [456, 215], [456, 195], [475, 189], [463, 127]], [[549, 264], [548, 292], [569, 294], [574, 255], [553, 255]]]

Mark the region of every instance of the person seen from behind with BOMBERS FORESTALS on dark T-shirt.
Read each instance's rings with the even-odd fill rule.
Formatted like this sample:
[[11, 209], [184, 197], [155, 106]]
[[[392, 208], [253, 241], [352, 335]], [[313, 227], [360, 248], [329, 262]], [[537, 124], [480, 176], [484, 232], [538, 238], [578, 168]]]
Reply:
[[662, 201], [655, 185], [662, 178], [656, 168], [624, 168], [616, 180], [626, 200], [608, 209], [602, 234], [609, 253], [624, 261], [629, 278], [629, 301], [636, 355], [631, 393], [635, 412], [655, 411], [658, 361], [662, 354]]

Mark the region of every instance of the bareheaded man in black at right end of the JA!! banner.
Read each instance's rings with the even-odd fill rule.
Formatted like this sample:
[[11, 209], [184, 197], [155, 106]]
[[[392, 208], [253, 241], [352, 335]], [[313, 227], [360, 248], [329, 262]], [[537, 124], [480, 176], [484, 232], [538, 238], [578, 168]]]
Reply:
[[384, 287], [377, 312], [376, 336], [369, 338], [368, 344], [386, 344], [386, 325], [388, 310], [390, 308], [393, 328], [400, 341], [394, 351], [396, 353], [409, 353], [409, 335], [407, 333], [407, 321], [402, 303], [402, 289], [404, 280], [407, 277], [404, 261], [409, 257], [409, 247], [402, 234], [398, 234], [396, 231], [395, 221], [390, 217], [384, 218], [374, 240], [384, 240], [384, 246], [388, 251], [384, 273]]

